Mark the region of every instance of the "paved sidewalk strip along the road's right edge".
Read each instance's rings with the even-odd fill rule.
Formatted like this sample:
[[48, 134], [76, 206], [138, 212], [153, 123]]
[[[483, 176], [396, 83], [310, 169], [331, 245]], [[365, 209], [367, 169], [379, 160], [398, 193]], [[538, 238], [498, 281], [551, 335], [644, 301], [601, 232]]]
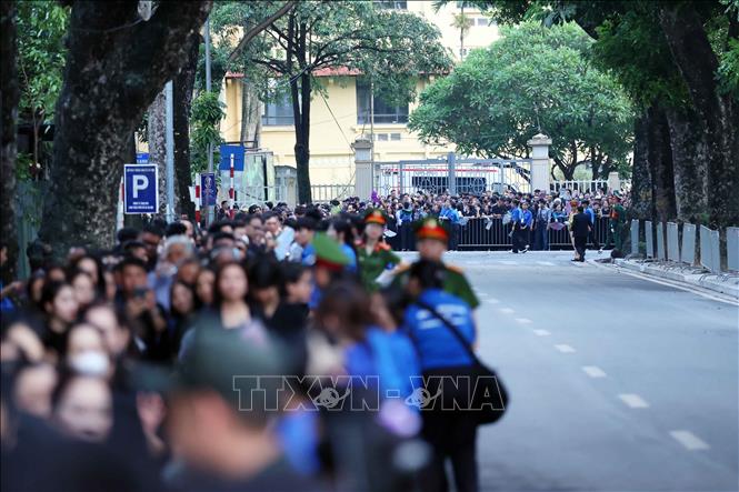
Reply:
[[739, 275], [733, 273], [716, 274], [696, 267], [688, 267], [668, 261], [645, 261], [616, 259], [617, 268], [639, 272], [648, 277], [681, 283], [685, 287], [709, 290], [739, 300]]

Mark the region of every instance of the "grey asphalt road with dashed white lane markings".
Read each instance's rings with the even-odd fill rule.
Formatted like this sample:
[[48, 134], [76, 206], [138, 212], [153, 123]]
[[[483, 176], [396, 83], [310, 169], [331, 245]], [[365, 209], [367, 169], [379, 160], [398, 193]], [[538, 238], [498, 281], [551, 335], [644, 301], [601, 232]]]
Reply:
[[482, 490], [737, 491], [739, 308], [570, 258], [448, 253], [511, 396]]

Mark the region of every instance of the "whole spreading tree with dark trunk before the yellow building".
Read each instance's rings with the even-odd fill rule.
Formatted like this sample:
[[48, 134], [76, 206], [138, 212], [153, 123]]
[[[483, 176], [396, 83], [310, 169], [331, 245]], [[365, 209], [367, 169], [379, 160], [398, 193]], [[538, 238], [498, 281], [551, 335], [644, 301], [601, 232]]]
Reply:
[[[228, 40], [251, 18], [264, 18], [274, 2], [227, 2], [213, 12], [214, 31]], [[254, 80], [273, 81], [268, 97], [289, 94], [296, 130], [298, 199], [310, 194], [310, 110], [321, 69], [348, 69], [372, 77], [377, 91], [396, 101], [413, 97], [412, 81], [421, 73], [448, 70], [449, 53], [436, 27], [422, 18], [376, 2], [303, 1], [254, 39], [231, 69]], [[259, 70], [254, 70], [259, 68]], [[267, 86], [264, 83], [264, 86]], [[266, 94], [267, 96], [267, 94]]]

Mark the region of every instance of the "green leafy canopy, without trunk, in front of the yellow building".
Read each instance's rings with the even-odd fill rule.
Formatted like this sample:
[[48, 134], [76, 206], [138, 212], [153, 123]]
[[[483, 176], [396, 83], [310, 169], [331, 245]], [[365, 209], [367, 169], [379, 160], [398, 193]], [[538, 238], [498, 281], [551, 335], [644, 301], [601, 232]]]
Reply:
[[[217, 51], [230, 53], [244, 31], [282, 4], [281, 1], [217, 2], [211, 13], [214, 44], [220, 47]], [[289, 39], [290, 19], [294, 27], [292, 39]], [[300, 26], [307, 29], [303, 60], [299, 54]], [[371, 1], [303, 1], [254, 38], [236, 60], [226, 63], [223, 72], [244, 73], [263, 88], [263, 99], [277, 99], [302, 73], [357, 69], [371, 73], [377, 91], [389, 100], [408, 102], [415, 97], [410, 78], [450, 68], [451, 58], [439, 40], [438, 29], [420, 17], [382, 9]]]

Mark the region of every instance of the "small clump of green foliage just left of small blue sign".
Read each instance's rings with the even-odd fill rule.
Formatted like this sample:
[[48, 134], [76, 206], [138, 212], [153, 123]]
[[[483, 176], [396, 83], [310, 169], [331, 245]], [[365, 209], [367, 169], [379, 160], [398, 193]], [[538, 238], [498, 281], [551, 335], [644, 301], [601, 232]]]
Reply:
[[192, 101], [190, 119], [190, 161], [192, 172], [206, 170], [208, 164], [208, 145], [218, 150], [222, 142], [219, 124], [223, 119], [223, 103], [218, 100], [217, 92], [202, 91]]

